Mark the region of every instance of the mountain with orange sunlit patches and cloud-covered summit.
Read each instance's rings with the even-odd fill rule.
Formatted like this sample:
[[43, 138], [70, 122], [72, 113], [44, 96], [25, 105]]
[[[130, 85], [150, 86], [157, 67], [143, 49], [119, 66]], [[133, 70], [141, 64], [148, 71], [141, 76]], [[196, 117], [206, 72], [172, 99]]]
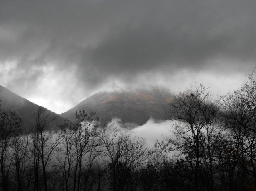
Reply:
[[74, 120], [76, 110], [85, 110], [96, 112], [102, 125], [115, 118], [120, 119], [124, 125], [143, 125], [150, 118], [165, 120], [167, 103], [173, 98], [174, 96], [164, 89], [99, 92], [62, 113], [61, 116]]

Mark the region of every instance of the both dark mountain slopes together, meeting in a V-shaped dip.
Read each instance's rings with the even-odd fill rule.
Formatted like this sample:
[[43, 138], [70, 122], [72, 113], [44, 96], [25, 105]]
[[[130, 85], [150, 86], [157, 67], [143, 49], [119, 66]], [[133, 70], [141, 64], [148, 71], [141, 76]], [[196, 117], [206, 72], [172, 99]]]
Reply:
[[118, 119], [124, 127], [135, 127], [146, 124], [152, 118], [155, 121], [166, 120], [167, 103], [174, 95], [166, 89], [136, 89], [130, 91], [100, 91], [81, 101], [70, 110], [58, 115], [47, 108], [38, 106], [29, 100], [13, 93], [0, 85], [0, 100], [4, 110], [16, 111], [23, 121], [22, 128], [28, 131], [35, 123], [33, 114], [43, 108], [51, 118], [57, 118], [56, 124], [62, 124], [64, 119], [75, 120], [75, 112], [85, 110], [96, 112], [99, 123], [104, 126], [113, 119]]

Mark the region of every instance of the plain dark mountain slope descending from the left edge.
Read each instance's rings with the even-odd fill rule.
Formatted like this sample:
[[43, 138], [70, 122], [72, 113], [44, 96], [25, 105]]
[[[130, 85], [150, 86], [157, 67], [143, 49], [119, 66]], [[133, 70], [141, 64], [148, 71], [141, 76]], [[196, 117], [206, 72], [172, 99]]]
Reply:
[[[16, 111], [18, 117], [22, 119], [22, 129], [26, 132], [35, 125], [35, 119], [33, 114], [38, 111], [39, 108], [43, 108], [37, 104], [30, 102], [29, 100], [18, 96], [11, 92], [7, 88], [0, 85], [0, 100], [2, 101], [2, 108], [5, 111]], [[44, 113], [49, 115], [49, 118], [56, 118], [52, 125], [62, 124], [64, 118], [58, 114], [44, 109]]]

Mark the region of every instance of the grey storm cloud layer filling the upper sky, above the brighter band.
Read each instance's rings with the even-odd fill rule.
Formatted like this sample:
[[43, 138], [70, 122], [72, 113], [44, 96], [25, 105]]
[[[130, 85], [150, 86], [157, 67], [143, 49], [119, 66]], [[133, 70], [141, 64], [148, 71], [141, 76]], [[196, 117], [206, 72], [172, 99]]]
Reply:
[[[8, 86], [34, 87], [76, 66], [76, 85], [150, 71], [239, 71], [256, 54], [255, 1], [1, 1], [0, 64]], [[215, 67], [215, 61], [219, 65]], [[241, 63], [233, 65], [233, 63]], [[73, 69], [74, 70], [74, 69]]]

